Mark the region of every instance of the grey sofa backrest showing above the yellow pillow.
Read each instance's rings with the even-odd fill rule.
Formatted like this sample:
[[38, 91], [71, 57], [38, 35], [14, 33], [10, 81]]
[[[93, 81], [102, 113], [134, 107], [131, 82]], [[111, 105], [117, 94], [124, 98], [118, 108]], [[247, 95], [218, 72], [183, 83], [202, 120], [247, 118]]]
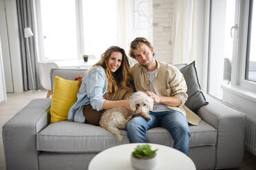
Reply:
[[83, 75], [87, 71], [86, 69], [51, 69], [50, 71], [50, 79], [51, 79], [51, 88], [53, 93], [54, 86], [54, 77], [57, 75], [58, 77], [62, 77], [65, 80], [73, 80], [74, 77], [78, 75]]

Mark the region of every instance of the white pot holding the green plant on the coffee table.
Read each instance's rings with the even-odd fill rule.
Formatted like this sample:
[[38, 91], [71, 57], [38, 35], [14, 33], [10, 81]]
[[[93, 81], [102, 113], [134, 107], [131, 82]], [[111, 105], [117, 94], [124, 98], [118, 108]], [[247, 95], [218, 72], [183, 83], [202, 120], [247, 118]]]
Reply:
[[138, 159], [132, 156], [131, 154], [131, 165], [135, 169], [139, 170], [149, 170], [156, 167], [157, 163], [157, 156], [151, 158], [151, 159]]

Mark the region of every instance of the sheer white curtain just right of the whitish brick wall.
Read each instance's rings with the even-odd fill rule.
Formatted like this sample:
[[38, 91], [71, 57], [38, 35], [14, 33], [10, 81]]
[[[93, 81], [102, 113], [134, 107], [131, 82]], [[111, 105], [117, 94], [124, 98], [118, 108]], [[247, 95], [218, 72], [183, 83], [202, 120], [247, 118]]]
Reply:
[[190, 63], [193, 58], [194, 0], [173, 0], [172, 64]]

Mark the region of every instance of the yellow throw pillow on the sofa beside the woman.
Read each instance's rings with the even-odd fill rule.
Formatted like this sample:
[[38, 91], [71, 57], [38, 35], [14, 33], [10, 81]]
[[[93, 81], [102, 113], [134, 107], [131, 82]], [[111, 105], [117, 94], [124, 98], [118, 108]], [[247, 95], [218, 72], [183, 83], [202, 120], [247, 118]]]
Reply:
[[67, 114], [71, 106], [77, 100], [79, 82], [54, 77], [54, 92], [52, 94], [51, 123], [67, 120]]

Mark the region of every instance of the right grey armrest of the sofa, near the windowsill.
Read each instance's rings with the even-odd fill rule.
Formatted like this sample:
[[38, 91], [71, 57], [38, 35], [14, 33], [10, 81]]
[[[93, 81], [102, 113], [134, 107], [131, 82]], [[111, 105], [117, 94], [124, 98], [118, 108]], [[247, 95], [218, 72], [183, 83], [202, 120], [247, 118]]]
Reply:
[[198, 110], [198, 115], [217, 130], [215, 168], [239, 167], [244, 155], [245, 114], [222, 104], [209, 95], [209, 105]]

